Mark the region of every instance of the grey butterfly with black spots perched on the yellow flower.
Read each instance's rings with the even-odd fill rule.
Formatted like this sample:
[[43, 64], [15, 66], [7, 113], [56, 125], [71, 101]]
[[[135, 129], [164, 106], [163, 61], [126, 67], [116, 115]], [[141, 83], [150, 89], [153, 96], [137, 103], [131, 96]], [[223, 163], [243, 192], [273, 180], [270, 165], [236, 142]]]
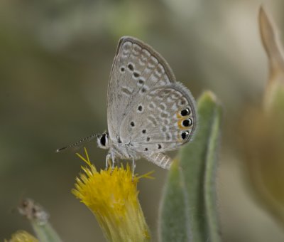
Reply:
[[107, 90], [107, 127], [101, 135], [58, 149], [78, 147], [97, 139], [111, 159], [145, 158], [169, 169], [165, 154], [189, 142], [197, 125], [195, 99], [175, 80], [170, 65], [146, 43], [130, 36], [120, 38]]

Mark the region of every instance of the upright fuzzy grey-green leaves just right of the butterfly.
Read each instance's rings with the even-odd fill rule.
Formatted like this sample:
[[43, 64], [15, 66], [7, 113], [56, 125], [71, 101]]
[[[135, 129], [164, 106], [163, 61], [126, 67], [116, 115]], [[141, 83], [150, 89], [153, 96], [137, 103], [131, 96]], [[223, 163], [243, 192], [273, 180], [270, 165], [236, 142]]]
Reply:
[[215, 187], [221, 107], [204, 93], [197, 102], [198, 126], [170, 169], [160, 211], [160, 241], [219, 242]]

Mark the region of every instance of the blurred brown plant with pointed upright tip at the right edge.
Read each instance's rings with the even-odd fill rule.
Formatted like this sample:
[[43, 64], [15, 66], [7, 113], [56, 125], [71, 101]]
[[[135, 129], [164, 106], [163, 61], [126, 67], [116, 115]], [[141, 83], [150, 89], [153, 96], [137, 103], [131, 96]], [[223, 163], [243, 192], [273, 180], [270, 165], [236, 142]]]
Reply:
[[270, 214], [284, 227], [284, 58], [278, 33], [261, 7], [259, 26], [270, 75], [263, 107], [247, 107], [239, 122], [248, 184]]

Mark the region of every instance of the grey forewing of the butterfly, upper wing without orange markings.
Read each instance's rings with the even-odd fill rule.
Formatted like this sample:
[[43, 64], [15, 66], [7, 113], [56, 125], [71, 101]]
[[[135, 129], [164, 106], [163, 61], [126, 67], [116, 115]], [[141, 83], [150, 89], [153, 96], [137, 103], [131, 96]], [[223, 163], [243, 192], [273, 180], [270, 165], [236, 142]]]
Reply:
[[136, 38], [121, 38], [111, 68], [107, 95], [111, 140], [120, 136], [121, 122], [137, 99], [146, 97], [153, 88], [170, 83], [175, 83], [175, 76], [162, 56]]

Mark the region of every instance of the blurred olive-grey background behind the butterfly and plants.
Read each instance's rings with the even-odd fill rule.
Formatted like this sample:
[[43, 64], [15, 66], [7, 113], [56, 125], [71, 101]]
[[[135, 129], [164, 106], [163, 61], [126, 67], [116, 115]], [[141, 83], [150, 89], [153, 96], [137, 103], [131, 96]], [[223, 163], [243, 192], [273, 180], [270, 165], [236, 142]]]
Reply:
[[[55, 149], [107, 130], [107, 83], [119, 38], [136, 36], [168, 61], [195, 98], [212, 90], [224, 107], [218, 204], [224, 241], [284, 241], [284, 231], [252, 195], [234, 130], [261, 102], [268, 61], [258, 31], [260, 4], [284, 27], [282, 0], [1, 0], [0, 240], [31, 231], [15, 211], [23, 196], [42, 204], [64, 241], [104, 241], [94, 216], [70, 192], [82, 161]], [[97, 168], [107, 152], [89, 144]], [[156, 241], [167, 171], [138, 184]]]

